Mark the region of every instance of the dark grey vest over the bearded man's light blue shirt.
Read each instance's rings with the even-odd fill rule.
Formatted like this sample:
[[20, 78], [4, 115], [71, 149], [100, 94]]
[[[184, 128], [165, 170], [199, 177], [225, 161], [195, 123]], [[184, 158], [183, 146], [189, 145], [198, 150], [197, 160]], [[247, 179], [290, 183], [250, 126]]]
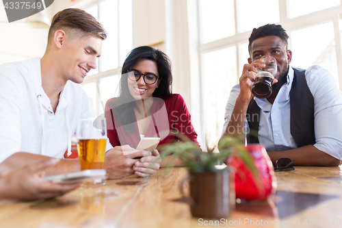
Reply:
[[[290, 129], [298, 147], [315, 144], [313, 94], [305, 79], [305, 70], [293, 68], [293, 82], [290, 90]], [[260, 115], [260, 107], [252, 99], [247, 116]], [[259, 118], [249, 118], [248, 125], [254, 132], [259, 131]], [[247, 143], [259, 143], [258, 137], [247, 135]]]

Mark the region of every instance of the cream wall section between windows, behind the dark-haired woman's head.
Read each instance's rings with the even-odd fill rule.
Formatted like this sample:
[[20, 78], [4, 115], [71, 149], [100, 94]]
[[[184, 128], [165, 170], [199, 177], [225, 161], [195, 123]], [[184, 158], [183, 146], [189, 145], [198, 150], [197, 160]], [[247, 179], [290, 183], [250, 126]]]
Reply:
[[190, 109], [187, 30], [187, 1], [133, 0], [133, 47], [163, 42], [161, 51], [172, 64], [173, 92], [181, 94]]

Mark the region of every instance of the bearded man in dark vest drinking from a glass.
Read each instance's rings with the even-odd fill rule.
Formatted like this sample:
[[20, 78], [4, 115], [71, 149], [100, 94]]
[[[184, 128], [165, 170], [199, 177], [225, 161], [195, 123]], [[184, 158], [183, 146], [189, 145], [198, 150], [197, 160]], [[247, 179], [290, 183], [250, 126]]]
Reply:
[[[247, 143], [265, 145], [273, 163], [289, 157], [300, 166], [338, 166], [342, 157], [342, 97], [334, 77], [321, 66], [306, 70], [289, 66], [292, 52], [281, 25], [253, 29], [250, 58], [239, 84], [226, 105], [223, 134], [247, 134]], [[265, 99], [252, 95], [251, 86], [259, 58], [276, 59], [272, 94]], [[252, 132], [252, 131], [251, 131]]]

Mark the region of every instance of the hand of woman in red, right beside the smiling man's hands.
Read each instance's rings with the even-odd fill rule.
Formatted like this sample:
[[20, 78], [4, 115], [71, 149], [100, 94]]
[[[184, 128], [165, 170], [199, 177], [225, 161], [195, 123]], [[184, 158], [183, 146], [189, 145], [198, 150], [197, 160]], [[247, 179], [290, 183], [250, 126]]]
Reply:
[[148, 177], [153, 175], [160, 168], [161, 158], [157, 150], [153, 155], [145, 156], [140, 161], [135, 162], [133, 166], [134, 173], [139, 177]]

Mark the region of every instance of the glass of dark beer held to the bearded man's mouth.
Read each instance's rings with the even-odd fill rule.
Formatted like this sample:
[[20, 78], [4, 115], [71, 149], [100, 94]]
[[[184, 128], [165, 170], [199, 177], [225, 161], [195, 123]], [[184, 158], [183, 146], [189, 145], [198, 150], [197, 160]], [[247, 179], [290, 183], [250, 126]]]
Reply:
[[252, 94], [258, 98], [267, 98], [272, 94], [272, 82], [277, 72], [276, 59], [269, 55], [264, 55], [259, 60], [265, 67], [257, 68], [257, 75], [252, 85]]

